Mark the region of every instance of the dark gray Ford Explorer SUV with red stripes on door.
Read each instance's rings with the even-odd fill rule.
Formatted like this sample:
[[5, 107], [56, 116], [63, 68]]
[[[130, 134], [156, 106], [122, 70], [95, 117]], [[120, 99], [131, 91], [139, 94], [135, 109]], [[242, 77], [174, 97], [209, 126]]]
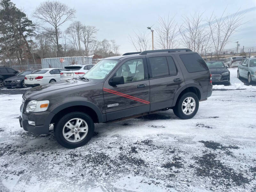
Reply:
[[54, 134], [60, 145], [87, 143], [94, 123], [173, 109], [181, 119], [196, 115], [212, 94], [210, 70], [189, 49], [125, 53], [101, 60], [84, 76], [37, 86], [23, 94], [20, 126]]

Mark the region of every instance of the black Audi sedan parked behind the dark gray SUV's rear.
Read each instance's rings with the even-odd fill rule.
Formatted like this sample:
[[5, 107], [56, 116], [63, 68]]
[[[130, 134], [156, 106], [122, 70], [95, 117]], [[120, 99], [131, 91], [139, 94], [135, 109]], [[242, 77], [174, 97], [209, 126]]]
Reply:
[[228, 66], [225, 66], [222, 61], [207, 61], [206, 64], [212, 74], [212, 83], [230, 84]]

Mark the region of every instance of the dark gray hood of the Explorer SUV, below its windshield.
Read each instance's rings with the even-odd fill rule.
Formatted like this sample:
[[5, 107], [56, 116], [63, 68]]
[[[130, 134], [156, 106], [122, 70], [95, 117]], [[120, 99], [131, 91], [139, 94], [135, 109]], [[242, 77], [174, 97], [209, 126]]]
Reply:
[[23, 96], [29, 100], [36, 100], [47, 95], [52, 95], [64, 91], [72, 91], [79, 89], [79, 87], [84, 88], [93, 84], [96, 84], [96, 82], [86, 82], [77, 79], [70, 79], [67, 81], [36, 86], [26, 91]]

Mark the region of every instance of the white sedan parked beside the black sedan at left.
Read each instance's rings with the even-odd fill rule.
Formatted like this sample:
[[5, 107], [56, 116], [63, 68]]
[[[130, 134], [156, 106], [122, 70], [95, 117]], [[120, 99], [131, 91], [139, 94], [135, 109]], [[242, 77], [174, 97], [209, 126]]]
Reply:
[[26, 75], [24, 82], [29, 87], [58, 82], [60, 81], [60, 71], [62, 71], [62, 69], [59, 68], [36, 70], [30, 75]]

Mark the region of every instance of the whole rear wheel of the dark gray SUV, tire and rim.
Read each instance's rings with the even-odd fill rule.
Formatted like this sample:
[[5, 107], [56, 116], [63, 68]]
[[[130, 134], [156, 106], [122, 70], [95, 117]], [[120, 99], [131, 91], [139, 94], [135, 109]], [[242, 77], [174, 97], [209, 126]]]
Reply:
[[184, 93], [177, 101], [173, 112], [181, 119], [190, 119], [196, 115], [199, 107], [199, 100], [195, 93]]

